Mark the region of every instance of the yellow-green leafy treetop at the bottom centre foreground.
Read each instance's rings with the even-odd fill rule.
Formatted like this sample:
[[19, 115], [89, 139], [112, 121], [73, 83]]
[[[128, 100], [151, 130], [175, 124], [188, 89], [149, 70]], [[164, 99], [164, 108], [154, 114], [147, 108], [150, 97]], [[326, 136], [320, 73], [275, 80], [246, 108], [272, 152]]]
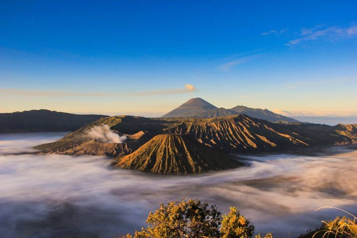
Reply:
[[[222, 217], [215, 205], [191, 199], [160, 204], [155, 213], [149, 213], [146, 223], [147, 228], [122, 238], [251, 238], [254, 233], [253, 224], [237, 208], [231, 207]], [[269, 233], [264, 238], [273, 236]]]

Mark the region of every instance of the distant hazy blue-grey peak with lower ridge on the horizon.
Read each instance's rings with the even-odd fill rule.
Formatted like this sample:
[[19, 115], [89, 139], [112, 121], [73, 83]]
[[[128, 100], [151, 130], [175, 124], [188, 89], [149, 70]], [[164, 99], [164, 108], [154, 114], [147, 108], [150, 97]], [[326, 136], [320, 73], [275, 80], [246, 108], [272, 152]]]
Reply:
[[296, 119], [273, 113], [267, 109], [254, 109], [244, 106], [237, 106], [232, 109], [217, 108], [201, 98], [188, 100], [178, 108], [162, 116], [162, 118], [214, 118], [240, 114], [271, 122], [299, 122]]

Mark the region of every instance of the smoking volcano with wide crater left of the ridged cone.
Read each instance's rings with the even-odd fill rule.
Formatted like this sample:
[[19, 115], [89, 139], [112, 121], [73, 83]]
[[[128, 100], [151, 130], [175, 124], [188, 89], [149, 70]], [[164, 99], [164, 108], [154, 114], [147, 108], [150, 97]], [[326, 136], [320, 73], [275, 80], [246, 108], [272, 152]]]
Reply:
[[[162, 123], [164, 121], [133, 116], [101, 118], [67, 134], [58, 141], [35, 146], [35, 149], [44, 153], [67, 155], [126, 155], [157, 135], [158, 131], [162, 131], [164, 128]], [[125, 134], [127, 139], [123, 143], [102, 143], [90, 137], [91, 128], [101, 125], [109, 125], [113, 133]], [[145, 131], [142, 130], [143, 128]]]

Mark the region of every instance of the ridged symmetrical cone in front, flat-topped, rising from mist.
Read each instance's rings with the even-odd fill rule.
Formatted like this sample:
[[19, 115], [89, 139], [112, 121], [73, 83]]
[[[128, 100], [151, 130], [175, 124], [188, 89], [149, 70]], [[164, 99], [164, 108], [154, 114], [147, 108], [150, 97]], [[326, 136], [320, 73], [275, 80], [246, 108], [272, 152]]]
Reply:
[[187, 135], [177, 134], [157, 135], [135, 152], [117, 158], [114, 164], [154, 174], [192, 174], [241, 165]]

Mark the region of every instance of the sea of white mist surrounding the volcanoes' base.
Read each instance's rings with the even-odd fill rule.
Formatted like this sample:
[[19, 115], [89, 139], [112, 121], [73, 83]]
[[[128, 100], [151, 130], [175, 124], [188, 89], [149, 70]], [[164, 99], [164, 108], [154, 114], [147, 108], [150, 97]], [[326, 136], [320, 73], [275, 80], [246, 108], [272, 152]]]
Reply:
[[145, 226], [149, 211], [181, 198], [237, 206], [256, 230], [292, 238], [341, 213], [357, 214], [357, 153], [249, 156], [249, 167], [191, 176], [113, 169], [101, 156], [14, 155], [63, 133], [0, 135], [0, 234], [113, 238]]

